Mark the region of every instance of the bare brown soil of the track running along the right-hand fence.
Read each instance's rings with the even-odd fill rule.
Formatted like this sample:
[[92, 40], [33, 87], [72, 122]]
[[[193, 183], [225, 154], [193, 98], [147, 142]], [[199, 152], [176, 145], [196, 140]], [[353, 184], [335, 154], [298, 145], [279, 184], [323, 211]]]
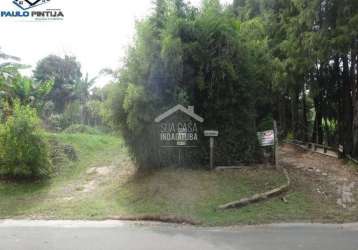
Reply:
[[[280, 164], [285, 166], [300, 188], [305, 188], [322, 209], [342, 209], [349, 216], [357, 214], [358, 173], [344, 160], [283, 144], [279, 150]], [[325, 207], [325, 205], [327, 207]], [[336, 207], [335, 207], [336, 206]], [[337, 211], [334, 211], [336, 213]], [[322, 212], [324, 215], [325, 212]]]

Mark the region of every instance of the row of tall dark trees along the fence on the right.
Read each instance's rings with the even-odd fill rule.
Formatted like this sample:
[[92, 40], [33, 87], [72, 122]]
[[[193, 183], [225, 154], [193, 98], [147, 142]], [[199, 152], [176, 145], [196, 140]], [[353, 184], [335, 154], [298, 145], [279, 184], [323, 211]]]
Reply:
[[265, 17], [282, 133], [356, 154], [358, 2], [236, 0], [233, 8], [244, 20]]

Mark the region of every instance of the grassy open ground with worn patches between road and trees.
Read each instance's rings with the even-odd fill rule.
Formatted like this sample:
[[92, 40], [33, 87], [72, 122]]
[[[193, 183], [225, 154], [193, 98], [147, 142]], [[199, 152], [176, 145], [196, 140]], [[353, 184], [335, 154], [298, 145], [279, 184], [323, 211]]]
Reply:
[[333, 191], [324, 181], [325, 175], [320, 175], [319, 181], [318, 175], [297, 166], [294, 159], [300, 162], [299, 157], [308, 153], [294, 148], [281, 150], [293, 180], [285, 199], [277, 197], [238, 210], [217, 211], [220, 204], [283, 184], [284, 176], [265, 166], [221, 172], [174, 168], [139, 172], [119, 137], [51, 136], [73, 145], [79, 160], [61, 166], [48, 181], [0, 181], [1, 218], [160, 219], [203, 225], [358, 220], [355, 203], [344, 208], [337, 204], [338, 190], [337, 195], [329, 195]]

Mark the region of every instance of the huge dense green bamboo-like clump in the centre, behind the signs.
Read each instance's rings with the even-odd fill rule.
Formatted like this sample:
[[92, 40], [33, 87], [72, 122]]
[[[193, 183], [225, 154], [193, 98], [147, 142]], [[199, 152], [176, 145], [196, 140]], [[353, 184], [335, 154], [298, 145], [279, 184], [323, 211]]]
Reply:
[[266, 42], [248, 43], [263, 39], [260, 31], [251, 33], [256, 26], [240, 22], [218, 1], [198, 10], [179, 0], [157, 1], [154, 13], [137, 23], [109, 105], [140, 164], [155, 164], [157, 145], [148, 143], [155, 141], [154, 118], [178, 103], [194, 105], [204, 128], [220, 131], [218, 161], [255, 158], [255, 96], [267, 75], [259, 67], [268, 64]]

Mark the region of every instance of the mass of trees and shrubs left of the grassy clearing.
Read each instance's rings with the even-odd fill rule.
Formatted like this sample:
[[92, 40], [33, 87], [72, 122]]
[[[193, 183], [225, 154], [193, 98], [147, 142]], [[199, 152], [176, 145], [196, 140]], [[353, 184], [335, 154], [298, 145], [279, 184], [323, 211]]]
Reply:
[[58, 153], [73, 155], [74, 151], [68, 145], [62, 148], [53, 143], [44, 136], [42, 127], [98, 133], [84, 124], [103, 124], [101, 90], [90, 93], [95, 79], [81, 78], [74, 57], [44, 58], [37, 65], [35, 77], [23, 76], [20, 70], [27, 66], [19, 61], [0, 51], [0, 176], [48, 176], [51, 162], [57, 164], [61, 158]]

